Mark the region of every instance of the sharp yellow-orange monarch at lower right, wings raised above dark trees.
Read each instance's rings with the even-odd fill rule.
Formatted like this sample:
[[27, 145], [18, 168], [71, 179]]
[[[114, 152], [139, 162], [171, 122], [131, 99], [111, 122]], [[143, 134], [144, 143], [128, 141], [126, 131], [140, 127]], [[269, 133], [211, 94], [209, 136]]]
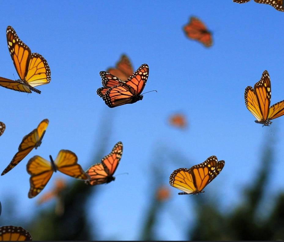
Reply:
[[199, 194], [223, 169], [225, 161], [218, 161], [210, 156], [205, 162], [192, 166], [190, 169], [179, 168], [170, 176], [170, 185], [182, 190], [179, 195]]

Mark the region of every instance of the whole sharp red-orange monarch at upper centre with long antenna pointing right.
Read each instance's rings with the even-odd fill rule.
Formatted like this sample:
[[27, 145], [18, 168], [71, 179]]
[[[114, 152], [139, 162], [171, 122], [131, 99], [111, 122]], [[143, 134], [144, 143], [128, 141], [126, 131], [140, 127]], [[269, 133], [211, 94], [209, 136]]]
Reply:
[[141, 65], [125, 82], [105, 71], [100, 72], [103, 87], [98, 88], [97, 94], [110, 108], [143, 99], [143, 91], [149, 75], [149, 66]]

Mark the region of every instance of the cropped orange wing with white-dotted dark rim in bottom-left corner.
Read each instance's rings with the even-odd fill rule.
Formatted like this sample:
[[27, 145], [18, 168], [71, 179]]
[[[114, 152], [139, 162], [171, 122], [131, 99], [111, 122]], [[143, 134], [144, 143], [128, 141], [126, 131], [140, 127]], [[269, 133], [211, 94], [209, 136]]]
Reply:
[[2, 226], [0, 227], [1, 241], [25, 241], [32, 240], [30, 233], [20, 226]]

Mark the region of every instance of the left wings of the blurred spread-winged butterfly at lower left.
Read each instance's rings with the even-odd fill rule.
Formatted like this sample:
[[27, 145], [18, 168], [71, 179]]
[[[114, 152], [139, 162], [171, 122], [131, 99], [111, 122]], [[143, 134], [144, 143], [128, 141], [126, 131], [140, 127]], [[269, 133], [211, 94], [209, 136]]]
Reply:
[[33, 198], [38, 195], [50, 180], [53, 171], [52, 164], [46, 159], [35, 155], [29, 159], [27, 164], [27, 172], [30, 177], [30, 190], [28, 197]]

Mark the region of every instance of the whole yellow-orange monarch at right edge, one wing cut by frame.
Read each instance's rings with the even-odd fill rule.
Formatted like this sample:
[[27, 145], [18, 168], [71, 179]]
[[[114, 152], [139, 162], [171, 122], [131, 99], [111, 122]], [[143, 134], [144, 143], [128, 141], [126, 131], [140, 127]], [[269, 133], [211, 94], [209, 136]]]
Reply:
[[260, 81], [245, 88], [245, 106], [256, 117], [256, 123], [263, 126], [271, 125], [271, 119], [284, 114], [284, 100], [270, 106], [271, 84], [267, 71], [262, 73]]

